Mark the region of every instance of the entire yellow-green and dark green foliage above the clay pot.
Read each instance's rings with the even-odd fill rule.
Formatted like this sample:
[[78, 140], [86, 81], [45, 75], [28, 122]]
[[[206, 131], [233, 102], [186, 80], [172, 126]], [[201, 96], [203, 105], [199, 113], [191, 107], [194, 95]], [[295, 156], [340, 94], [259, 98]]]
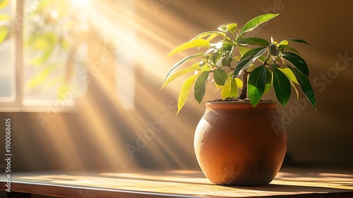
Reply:
[[[276, 42], [273, 37], [270, 41], [261, 37], [246, 37], [258, 25], [276, 16], [278, 14], [272, 13], [257, 16], [240, 29], [237, 23], [220, 25], [217, 30], [196, 35], [174, 48], [168, 57], [191, 48], [203, 50], [174, 64], [164, 80], [162, 88], [184, 74], [192, 74], [181, 86], [178, 112], [192, 88], [195, 99], [201, 103], [210, 78], [222, 98], [244, 99], [245, 95], [253, 107], [272, 87], [283, 106], [288, 103], [292, 88], [299, 98], [300, 88], [311, 105], [316, 107], [308, 66], [301, 54], [289, 47], [290, 42], [309, 43], [297, 38]], [[191, 60], [193, 63], [190, 66], [181, 69]], [[239, 89], [246, 94], [239, 94]]]

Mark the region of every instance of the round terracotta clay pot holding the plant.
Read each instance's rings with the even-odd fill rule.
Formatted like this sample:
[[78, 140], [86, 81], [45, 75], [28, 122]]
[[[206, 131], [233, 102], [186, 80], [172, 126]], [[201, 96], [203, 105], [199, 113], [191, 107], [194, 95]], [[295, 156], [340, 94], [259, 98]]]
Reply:
[[208, 102], [196, 127], [196, 158], [217, 185], [266, 185], [280, 170], [287, 132], [274, 102]]

